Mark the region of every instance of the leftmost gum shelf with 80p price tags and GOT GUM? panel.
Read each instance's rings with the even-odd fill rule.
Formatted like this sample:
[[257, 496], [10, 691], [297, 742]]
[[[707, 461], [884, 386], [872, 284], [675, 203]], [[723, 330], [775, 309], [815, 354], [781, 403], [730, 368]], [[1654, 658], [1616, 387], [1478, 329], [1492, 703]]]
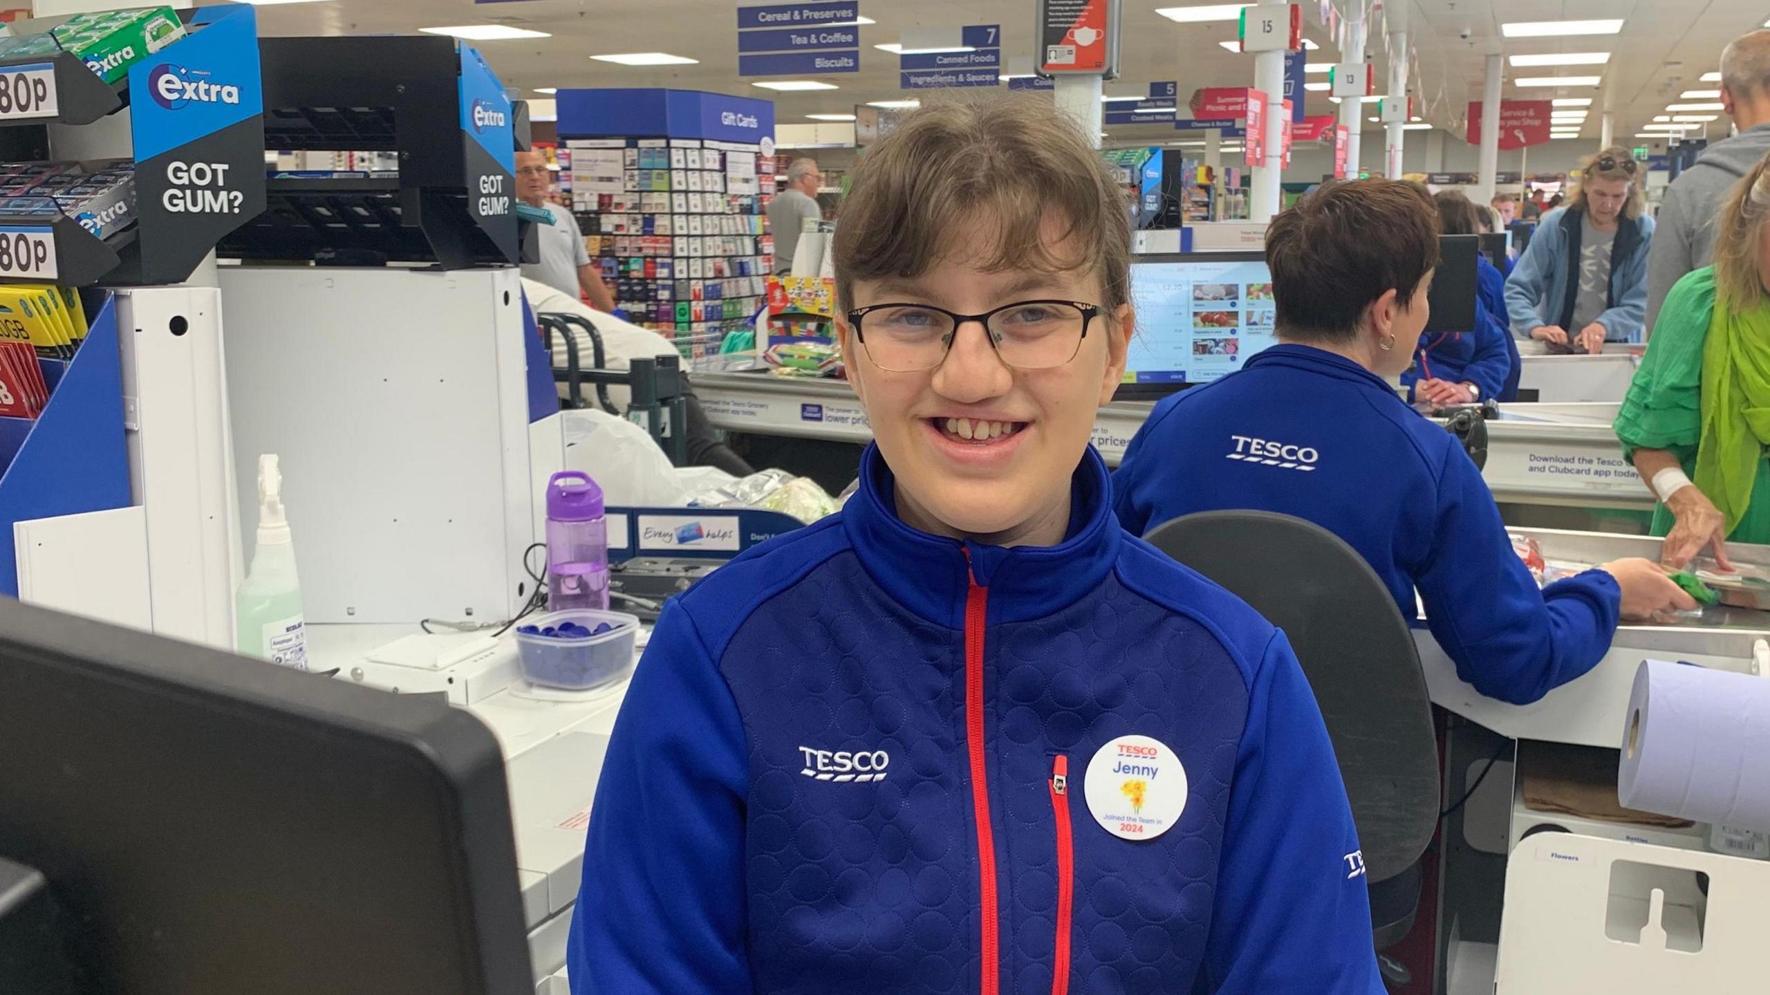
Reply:
[[[27, 179], [0, 198], [0, 280], [64, 287], [181, 283], [216, 243], [264, 209], [257, 14], [250, 5], [182, 11], [184, 34], [104, 81], [69, 50], [0, 57], [0, 131], [12, 154], [51, 150], [48, 126], [94, 124], [129, 108], [129, 147], [90, 188]], [[55, 35], [32, 21], [19, 37]], [[150, 94], [131, 101], [131, 94]], [[41, 140], [30, 142], [35, 127]], [[19, 140], [25, 138], [25, 140]], [[60, 138], [57, 140], [60, 142]], [[9, 184], [11, 186], [11, 184]], [[103, 191], [97, 188], [104, 186]], [[120, 230], [119, 230], [120, 228]]]

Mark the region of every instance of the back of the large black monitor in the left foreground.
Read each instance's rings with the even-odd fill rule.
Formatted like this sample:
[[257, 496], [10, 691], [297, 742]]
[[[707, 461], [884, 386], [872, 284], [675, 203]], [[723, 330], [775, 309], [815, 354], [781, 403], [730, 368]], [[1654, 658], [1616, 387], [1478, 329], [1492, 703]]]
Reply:
[[65, 954], [0, 960], [7, 993], [535, 990], [478, 719], [11, 598], [0, 857], [60, 906], [0, 914], [0, 951]]

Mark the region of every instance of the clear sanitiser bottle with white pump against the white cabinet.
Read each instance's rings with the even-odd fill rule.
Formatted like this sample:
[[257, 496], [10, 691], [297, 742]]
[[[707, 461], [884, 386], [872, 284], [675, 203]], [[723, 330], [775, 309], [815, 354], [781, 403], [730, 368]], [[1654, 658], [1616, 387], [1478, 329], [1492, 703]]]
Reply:
[[258, 457], [258, 547], [234, 598], [239, 652], [297, 671], [308, 669], [296, 545], [283, 515], [283, 473], [276, 455]]

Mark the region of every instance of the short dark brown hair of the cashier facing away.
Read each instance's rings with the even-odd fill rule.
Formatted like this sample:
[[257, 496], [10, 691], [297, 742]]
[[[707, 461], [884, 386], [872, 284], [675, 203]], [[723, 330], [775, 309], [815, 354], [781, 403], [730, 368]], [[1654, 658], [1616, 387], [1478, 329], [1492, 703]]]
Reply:
[[1388, 179], [1324, 184], [1266, 230], [1278, 333], [1296, 342], [1349, 342], [1370, 305], [1402, 305], [1437, 266], [1430, 198]]

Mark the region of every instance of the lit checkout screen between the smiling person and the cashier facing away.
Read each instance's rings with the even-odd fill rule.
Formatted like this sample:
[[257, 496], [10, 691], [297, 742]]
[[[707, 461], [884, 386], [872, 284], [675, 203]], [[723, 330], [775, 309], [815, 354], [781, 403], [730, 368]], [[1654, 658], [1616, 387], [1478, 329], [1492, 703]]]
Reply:
[[1127, 384], [1205, 384], [1276, 345], [1266, 260], [1197, 255], [1131, 264]]

